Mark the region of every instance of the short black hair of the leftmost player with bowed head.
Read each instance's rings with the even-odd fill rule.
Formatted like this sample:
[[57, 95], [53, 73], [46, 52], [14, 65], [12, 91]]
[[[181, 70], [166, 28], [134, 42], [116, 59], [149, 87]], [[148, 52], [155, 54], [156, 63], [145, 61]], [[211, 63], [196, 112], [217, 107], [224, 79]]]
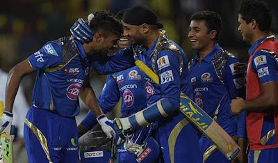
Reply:
[[94, 14], [95, 17], [90, 22], [90, 27], [94, 31], [104, 30], [120, 37], [123, 33], [122, 23], [117, 20], [112, 13], [99, 11]]

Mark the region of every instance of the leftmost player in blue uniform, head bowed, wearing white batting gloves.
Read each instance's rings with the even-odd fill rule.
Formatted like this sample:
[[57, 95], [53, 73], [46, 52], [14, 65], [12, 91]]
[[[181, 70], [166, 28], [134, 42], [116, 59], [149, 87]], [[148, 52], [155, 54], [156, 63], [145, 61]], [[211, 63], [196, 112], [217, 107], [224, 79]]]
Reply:
[[[88, 82], [93, 58], [113, 48], [122, 35], [122, 24], [111, 13], [99, 12], [90, 22], [92, 42], [81, 45], [72, 37], [49, 41], [38, 52], [18, 63], [9, 72], [6, 106], [1, 117], [1, 133], [10, 134], [13, 103], [19, 83], [25, 75], [38, 72], [33, 88], [33, 106], [24, 126], [29, 162], [78, 162], [77, 126], [79, 96], [85, 104], [102, 114]], [[106, 117], [101, 126], [111, 134]]]

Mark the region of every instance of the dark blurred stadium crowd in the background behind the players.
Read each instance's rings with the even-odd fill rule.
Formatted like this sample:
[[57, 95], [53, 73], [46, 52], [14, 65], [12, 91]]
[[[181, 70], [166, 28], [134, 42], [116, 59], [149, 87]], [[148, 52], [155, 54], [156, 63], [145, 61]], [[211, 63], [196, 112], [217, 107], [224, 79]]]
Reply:
[[[271, 31], [277, 35], [278, 1], [267, 2], [273, 15]], [[247, 62], [249, 45], [242, 41], [238, 32], [236, 8], [240, 0], [11, 0], [0, 3], [0, 69], [8, 72], [13, 65], [36, 52], [47, 40], [69, 36], [70, 26], [79, 17], [85, 19], [88, 13], [97, 10], [117, 13], [118, 10], [138, 4], [154, 9], [167, 35], [183, 47], [189, 59], [194, 53], [187, 37], [190, 15], [199, 10], [219, 13], [222, 17], [220, 45], [238, 56], [240, 61]], [[34, 79], [35, 73], [25, 77], [22, 82], [28, 105], [31, 105]], [[92, 87], [96, 95], [99, 95], [105, 77], [93, 79]], [[85, 111], [81, 114], [84, 115]]]

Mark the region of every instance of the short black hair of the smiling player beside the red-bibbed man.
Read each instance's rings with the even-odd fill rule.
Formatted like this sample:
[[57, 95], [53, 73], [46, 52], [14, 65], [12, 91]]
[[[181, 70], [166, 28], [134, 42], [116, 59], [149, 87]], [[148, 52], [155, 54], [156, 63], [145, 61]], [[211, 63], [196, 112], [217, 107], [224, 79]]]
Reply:
[[206, 24], [206, 28], [208, 29], [208, 32], [212, 30], [217, 31], [215, 40], [218, 40], [218, 37], [220, 35], [220, 29], [222, 26], [222, 19], [218, 13], [215, 13], [211, 10], [202, 10], [191, 16], [190, 21], [193, 20], [197, 20], [197, 21], [203, 20]]

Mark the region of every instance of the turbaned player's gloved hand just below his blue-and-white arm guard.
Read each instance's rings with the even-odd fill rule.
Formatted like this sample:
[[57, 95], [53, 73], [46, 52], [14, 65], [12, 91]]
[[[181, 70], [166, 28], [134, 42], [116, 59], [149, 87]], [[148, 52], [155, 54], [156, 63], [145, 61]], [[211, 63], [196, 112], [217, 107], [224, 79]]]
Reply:
[[114, 130], [116, 134], [118, 134], [122, 139], [125, 139], [127, 134], [131, 134], [133, 129], [131, 127], [131, 123], [129, 122], [129, 118], [115, 118], [113, 121]]

